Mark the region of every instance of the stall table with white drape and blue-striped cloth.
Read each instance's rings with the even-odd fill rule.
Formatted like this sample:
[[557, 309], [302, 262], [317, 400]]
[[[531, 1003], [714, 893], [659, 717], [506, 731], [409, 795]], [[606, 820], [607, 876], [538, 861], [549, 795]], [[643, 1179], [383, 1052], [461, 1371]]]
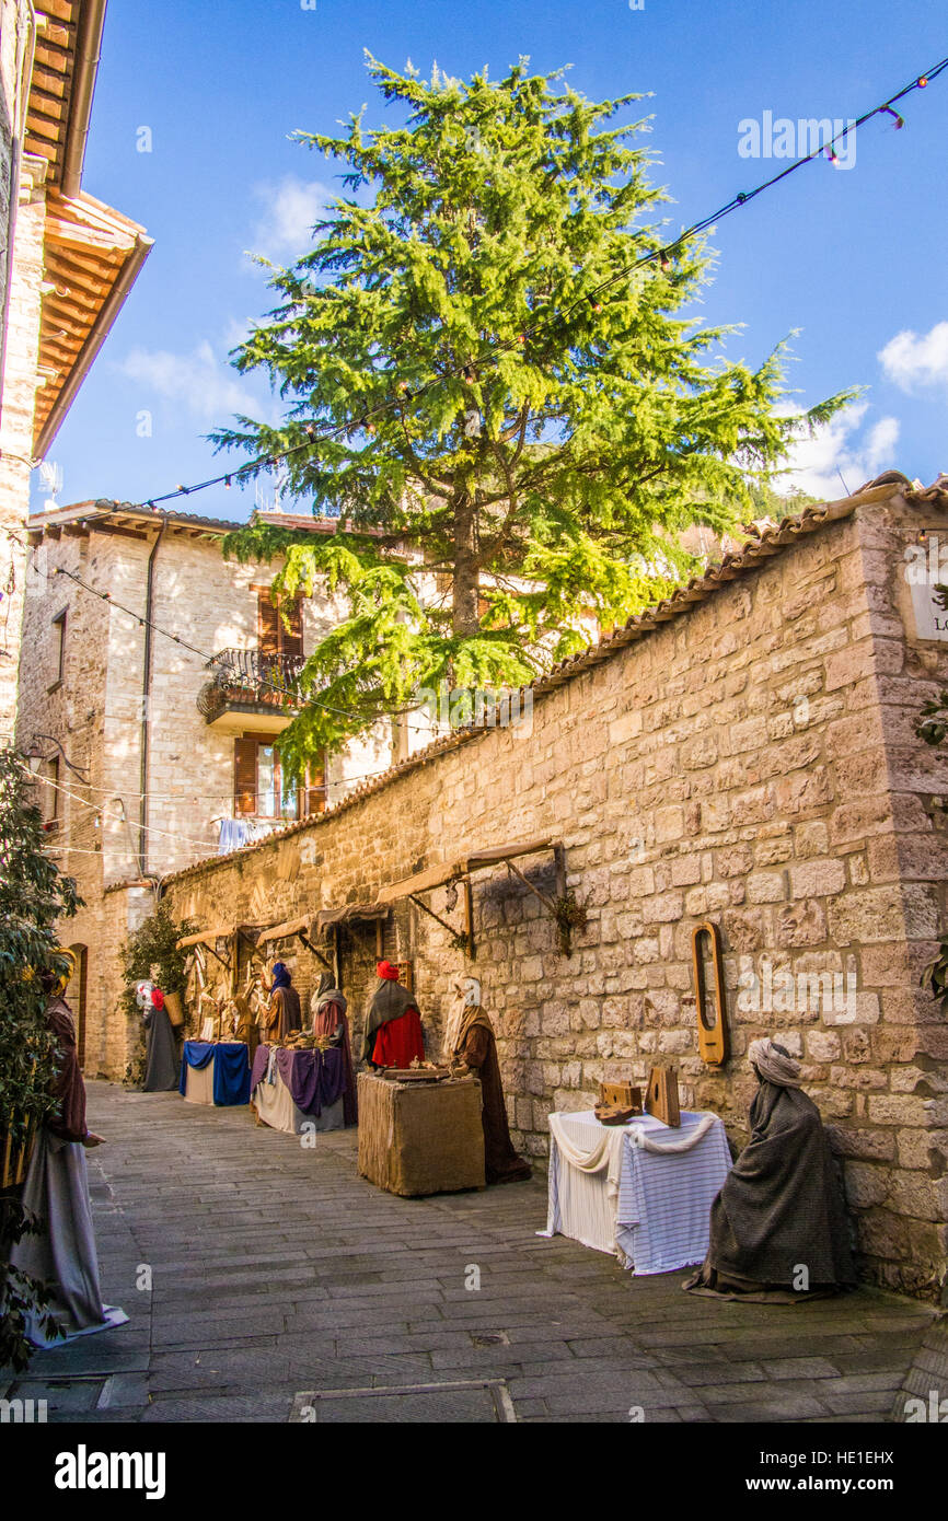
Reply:
[[682, 1110], [603, 1126], [592, 1110], [549, 1116], [549, 1209], [542, 1235], [612, 1252], [636, 1275], [703, 1262], [711, 1205], [730, 1168], [718, 1115]]

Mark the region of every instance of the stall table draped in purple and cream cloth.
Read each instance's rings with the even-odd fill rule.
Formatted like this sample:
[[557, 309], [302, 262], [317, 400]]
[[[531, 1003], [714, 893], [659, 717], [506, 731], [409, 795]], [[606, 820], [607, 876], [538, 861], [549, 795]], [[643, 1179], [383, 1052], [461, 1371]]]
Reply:
[[257, 1118], [286, 1135], [341, 1130], [345, 1062], [338, 1046], [291, 1051], [259, 1045], [250, 1074], [250, 1101]]

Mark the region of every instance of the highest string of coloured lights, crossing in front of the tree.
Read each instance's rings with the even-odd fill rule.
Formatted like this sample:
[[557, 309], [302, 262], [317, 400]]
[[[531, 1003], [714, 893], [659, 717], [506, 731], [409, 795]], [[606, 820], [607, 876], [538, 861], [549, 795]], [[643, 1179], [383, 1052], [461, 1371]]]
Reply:
[[207, 491], [210, 487], [215, 485], [224, 485], [225, 488], [230, 488], [230, 485], [234, 481], [242, 485], [245, 479], [250, 479], [260, 470], [272, 468], [282, 464], [285, 459], [291, 459], [295, 455], [313, 450], [321, 443], [330, 443], [345, 433], [353, 433], [359, 430], [373, 433], [376, 430], [374, 426], [376, 418], [383, 417], [385, 414], [393, 411], [405, 412], [406, 406], [411, 406], [412, 402], [420, 400], [423, 395], [435, 389], [437, 386], [444, 385], [446, 380], [463, 379], [467, 383], [475, 383], [478, 379], [478, 370], [484, 370], [488, 365], [496, 364], [498, 359], [507, 353], [516, 353], [517, 350], [522, 350], [530, 342], [530, 339], [536, 339], [540, 335], [545, 324], [549, 322], [551, 319], [555, 325], [563, 325], [566, 319], [571, 316], [571, 313], [577, 310], [577, 307], [584, 307], [584, 306], [590, 307], [596, 313], [601, 312], [603, 295], [607, 291], [610, 291], [615, 284], [618, 284], [619, 280], [627, 280], [630, 275], [633, 275], [638, 269], [642, 269], [645, 265], [657, 262], [662, 269], [668, 269], [671, 266], [671, 254], [677, 248], [680, 248], [689, 239], [697, 237], [701, 233], [708, 231], [708, 228], [711, 228], [717, 222], [721, 222], [726, 216], [730, 216], [733, 211], [738, 211], [743, 207], [749, 205], [750, 201], [756, 199], [756, 196], [762, 195], [765, 190], [773, 189], [773, 186], [781, 184], [781, 181], [796, 173], [805, 164], [810, 164], [816, 158], [822, 157], [826, 157], [832, 164], [838, 164], [840, 160], [835, 151], [837, 144], [849, 132], [857, 131], [860, 126], [864, 126], [873, 117], [889, 116], [893, 119], [896, 131], [901, 129], [905, 125], [905, 120], [902, 114], [895, 110], [898, 102], [904, 100], [916, 90], [925, 90], [934, 79], [937, 79], [945, 71], [945, 68], [948, 68], [948, 58], [942, 58], [931, 68], [927, 68], [924, 73], [916, 75], [913, 79], [910, 79], [907, 85], [904, 85], [901, 90], [896, 90], [895, 94], [890, 94], [886, 100], [872, 106], [869, 111], [864, 111], [863, 116], [855, 117], [855, 120], [848, 122], [846, 126], [843, 126], [831, 138], [820, 143], [811, 152], [796, 158], [785, 169], [779, 170], [779, 173], [771, 175], [768, 179], [764, 179], [759, 186], [755, 186], [753, 190], [738, 190], [738, 193], [732, 196], [730, 201], [724, 202], [724, 205], [720, 205], [715, 211], [709, 213], [708, 216], [703, 216], [700, 221], [692, 222], [691, 227], [686, 227], [682, 233], [679, 233], [677, 237], [665, 242], [659, 248], [648, 249], [633, 263], [625, 265], [621, 269], [616, 269], [615, 274], [601, 280], [596, 286], [575, 297], [572, 301], [568, 301], [565, 306], [555, 306], [554, 303], [548, 303], [546, 306], [537, 307], [534, 319], [517, 333], [516, 339], [493, 344], [478, 356], [460, 360], [453, 367], [449, 365], [441, 374], [434, 376], [431, 380], [423, 382], [414, 391], [408, 386], [406, 382], [399, 382], [396, 386], [396, 392], [393, 395], [376, 403], [373, 408], [362, 411], [359, 415], [350, 418], [345, 423], [336, 423], [333, 426], [324, 426], [324, 427], [320, 427], [317, 423], [309, 423], [306, 426], [307, 438], [304, 443], [291, 444], [286, 449], [278, 450], [275, 453], [259, 455], [256, 459], [250, 459], [243, 465], [237, 465], [231, 470], [222, 472], [221, 475], [210, 476], [205, 481], [196, 481], [193, 485], [177, 485], [172, 491], [164, 491], [160, 496], [146, 497], [143, 502], [137, 505], [148, 506], [152, 511], [158, 511], [161, 502], [180, 500], [183, 496], [193, 496], [196, 491]]

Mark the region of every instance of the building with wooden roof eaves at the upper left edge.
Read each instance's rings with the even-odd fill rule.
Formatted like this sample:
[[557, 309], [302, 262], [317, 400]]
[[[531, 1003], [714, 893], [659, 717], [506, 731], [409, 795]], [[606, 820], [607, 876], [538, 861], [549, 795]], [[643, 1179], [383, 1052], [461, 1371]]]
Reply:
[[9, 739], [30, 472], [151, 249], [82, 186], [105, 0], [0, 0], [0, 738]]

